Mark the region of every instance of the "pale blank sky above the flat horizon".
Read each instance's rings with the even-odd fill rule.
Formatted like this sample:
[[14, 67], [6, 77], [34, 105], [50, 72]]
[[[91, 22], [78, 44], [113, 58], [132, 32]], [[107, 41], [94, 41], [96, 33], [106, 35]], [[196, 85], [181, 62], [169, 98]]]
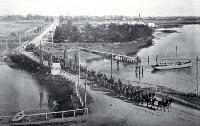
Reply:
[[200, 0], [0, 0], [0, 15], [200, 16]]

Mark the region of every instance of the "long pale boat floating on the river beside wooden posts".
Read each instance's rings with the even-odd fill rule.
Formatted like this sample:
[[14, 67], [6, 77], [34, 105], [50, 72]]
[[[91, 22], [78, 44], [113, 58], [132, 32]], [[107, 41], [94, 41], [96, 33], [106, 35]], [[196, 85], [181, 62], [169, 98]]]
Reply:
[[180, 68], [187, 68], [191, 67], [192, 62], [187, 61], [187, 62], [175, 62], [175, 63], [160, 63], [156, 65], [152, 65], [152, 68], [155, 70], [168, 70], [168, 69], [180, 69]]

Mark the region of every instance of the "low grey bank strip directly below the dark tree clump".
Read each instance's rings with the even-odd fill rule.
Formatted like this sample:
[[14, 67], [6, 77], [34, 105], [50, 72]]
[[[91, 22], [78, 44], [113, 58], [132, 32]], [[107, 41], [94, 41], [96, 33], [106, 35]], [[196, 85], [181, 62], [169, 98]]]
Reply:
[[[154, 36], [151, 37], [143, 37], [140, 39], [137, 39], [132, 42], [123, 42], [123, 43], [78, 43], [79, 47], [87, 48], [87, 49], [92, 49], [92, 50], [98, 50], [98, 51], [103, 51], [103, 52], [113, 52], [116, 54], [121, 54], [121, 55], [135, 55], [139, 50], [149, 47], [153, 45], [153, 39]], [[67, 50], [67, 57], [69, 59], [73, 59], [74, 55], [76, 53], [76, 46], [77, 43], [46, 43], [45, 44], [45, 51], [48, 51], [49, 48], [51, 48], [51, 53], [53, 55], [56, 55], [57, 57], [63, 57], [64, 50], [66, 48]], [[83, 59], [90, 59], [91, 57], [99, 57], [97, 55], [84, 55], [85, 53], [81, 52], [81, 57]]]

